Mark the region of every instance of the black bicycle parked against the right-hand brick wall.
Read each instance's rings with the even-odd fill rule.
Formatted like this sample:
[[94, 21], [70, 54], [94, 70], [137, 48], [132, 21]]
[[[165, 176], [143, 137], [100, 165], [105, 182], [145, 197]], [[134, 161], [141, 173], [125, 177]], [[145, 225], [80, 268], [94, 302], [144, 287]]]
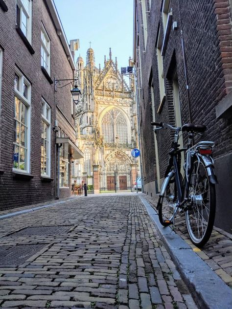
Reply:
[[[206, 131], [206, 126], [185, 124], [173, 127], [153, 122], [154, 131], [163, 128], [175, 130], [168, 166], [162, 183], [157, 210], [163, 226], [175, 223], [177, 213], [185, 213], [189, 237], [196, 246], [208, 242], [215, 218], [215, 184], [212, 149], [214, 142], [200, 141], [194, 145], [194, 134]], [[180, 149], [180, 132], [187, 132], [187, 147]], [[184, 175], [181, 173], [181, 155], [185, 154]]]

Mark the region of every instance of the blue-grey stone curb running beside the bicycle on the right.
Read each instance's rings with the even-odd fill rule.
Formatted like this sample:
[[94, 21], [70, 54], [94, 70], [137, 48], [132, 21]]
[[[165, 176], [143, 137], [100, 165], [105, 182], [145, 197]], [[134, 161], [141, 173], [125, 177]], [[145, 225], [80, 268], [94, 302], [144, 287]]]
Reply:
[[169, 226], [162, 226], [157, 212], [146, 199], [139, 198], [199, 307], [205, 309], [231, 309], [231, 288]]

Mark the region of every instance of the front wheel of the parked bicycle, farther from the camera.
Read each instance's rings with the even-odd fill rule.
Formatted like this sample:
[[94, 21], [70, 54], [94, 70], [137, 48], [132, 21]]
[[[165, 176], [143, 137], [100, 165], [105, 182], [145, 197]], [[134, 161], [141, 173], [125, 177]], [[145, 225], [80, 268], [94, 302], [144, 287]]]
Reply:
[[160, 196], [158, 201], [159, 219], [163, 226], [167, 226], [173, 222], [173, 209], [175, 209], [174, 215], [178, 211], [178, 207], [176, 207], [178, 196], [174, 174], [165, 178], [161, 192], [164, 192], [164, 195]]

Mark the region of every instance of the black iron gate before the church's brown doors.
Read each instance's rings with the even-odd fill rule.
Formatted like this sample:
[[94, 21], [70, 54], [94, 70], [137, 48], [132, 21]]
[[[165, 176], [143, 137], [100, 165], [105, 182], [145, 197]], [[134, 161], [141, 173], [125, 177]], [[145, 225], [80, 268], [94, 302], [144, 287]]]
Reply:
[[129, 192], [131, 187], [131, 172], [100, 173], [100, 193]]

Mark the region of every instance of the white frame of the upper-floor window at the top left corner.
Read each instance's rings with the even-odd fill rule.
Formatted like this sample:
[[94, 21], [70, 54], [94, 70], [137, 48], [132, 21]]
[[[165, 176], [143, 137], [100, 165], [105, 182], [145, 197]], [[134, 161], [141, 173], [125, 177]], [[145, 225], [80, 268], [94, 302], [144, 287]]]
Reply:
[[[28, 1], [28, 9], [25, 6], [25, 1]], [[23, 21], [22, 21], [22, 12], [26, 16], [26, 34], [25, 37], [27, 38], [28, 42], [31, 43], [31, 32], [32, 32], [32, 0], [17, 0], [17, 5], [20, 9], [20, 28], [23, 31]]]

